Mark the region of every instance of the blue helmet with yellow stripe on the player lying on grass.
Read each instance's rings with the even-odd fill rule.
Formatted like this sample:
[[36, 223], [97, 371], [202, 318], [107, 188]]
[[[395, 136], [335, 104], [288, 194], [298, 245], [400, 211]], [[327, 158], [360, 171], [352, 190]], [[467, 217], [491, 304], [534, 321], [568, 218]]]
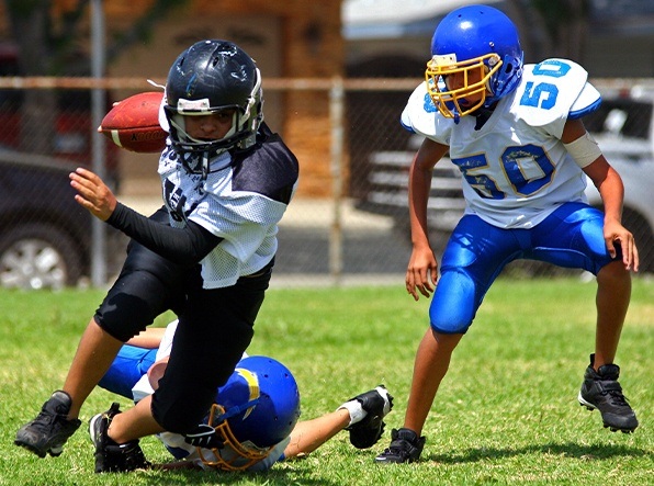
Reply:
[[300, 392], [291, 371], [269, 357], [244, 358], [218, 388], [206, 422], [224, 442], [222, 449], [198, 449], [210, 467], [245, 470], [266, 459], [290, 436], [300, 418]]

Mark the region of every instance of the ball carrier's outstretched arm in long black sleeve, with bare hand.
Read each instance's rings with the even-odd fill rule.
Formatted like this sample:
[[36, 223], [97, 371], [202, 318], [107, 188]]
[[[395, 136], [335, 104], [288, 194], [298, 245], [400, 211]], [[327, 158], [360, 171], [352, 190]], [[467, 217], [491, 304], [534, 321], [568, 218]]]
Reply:
[[121, 204], [102, 179], [90, 170], [79, 168], [69, 178], [70, 185], [78, 192], [75, 200], [93, 216], [174, 263], [195, 264], [223, 240], [193, 222], [187, 222], [183, 228], [173, 228], [136, 213]]

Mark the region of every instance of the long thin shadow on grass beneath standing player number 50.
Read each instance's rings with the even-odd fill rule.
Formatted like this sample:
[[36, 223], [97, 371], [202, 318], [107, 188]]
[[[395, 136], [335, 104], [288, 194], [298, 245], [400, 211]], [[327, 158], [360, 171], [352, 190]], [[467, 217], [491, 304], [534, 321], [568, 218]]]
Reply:
[[461, 454], [431, 454], [422, 456], [422, 461], [433, 461], [442, 464], [460, 464], [471, 463], [485, 460], [494, 460], [501, 457], [512, 457], [517, 455], [544, 453], [563, 455], [571, 459], [579, 459], [583, 461], [602, 460], [617, 456], [632, 456], [644, 457], [652, 455], [650, 451], [631, 448], [627, 445], [611, 445], [611, 444], [596, 444], [596, 445], [579, 445], [578, 443], [546, 443], [533, 444], [525, 448], [476, 448], [469, 449]]

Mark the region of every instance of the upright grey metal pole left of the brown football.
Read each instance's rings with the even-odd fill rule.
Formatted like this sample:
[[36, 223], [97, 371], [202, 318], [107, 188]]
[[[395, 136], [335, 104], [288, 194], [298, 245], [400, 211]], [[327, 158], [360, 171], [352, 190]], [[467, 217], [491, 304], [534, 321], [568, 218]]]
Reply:
[[[102, 78], [105, 68], [104, 45], [104, 12], [102, 0], [91, 0], [91, 76]], [[104, 114], [105, 91], [95, 88], [91, 91], [91, 120], [92, 127], [100, 126]], [[91, 152], [93, 172], [104, 179], [105, 150], [104, 137], [93, 129], [91, 136]], [[91, 228], [91, 283], [102, 286], [106, 283], [106, 225], [93, 218]]]

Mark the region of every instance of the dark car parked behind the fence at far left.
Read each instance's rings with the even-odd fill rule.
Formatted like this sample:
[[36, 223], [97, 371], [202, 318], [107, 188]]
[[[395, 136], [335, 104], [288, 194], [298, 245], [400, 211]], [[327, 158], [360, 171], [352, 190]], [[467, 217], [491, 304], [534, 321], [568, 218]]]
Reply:
[[[92, 216], [75, 201], [76, 166], [0, 148], [0, 286], [61, 289], [90, 273]], [[122, 235], [108, 228], [115, 271]]]

